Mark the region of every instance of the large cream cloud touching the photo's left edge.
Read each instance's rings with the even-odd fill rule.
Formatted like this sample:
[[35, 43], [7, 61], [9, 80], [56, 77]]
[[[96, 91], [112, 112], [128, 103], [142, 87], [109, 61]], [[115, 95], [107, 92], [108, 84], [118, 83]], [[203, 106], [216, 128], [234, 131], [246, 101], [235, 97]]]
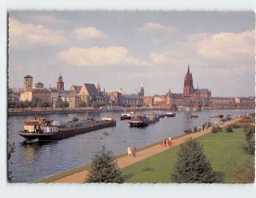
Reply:
[[9, 18], [9, 47], [26, 48], [28, 45], [55, 46], [65, 42], [60, 31], [51, 31], [44, 25], [24, 24]]

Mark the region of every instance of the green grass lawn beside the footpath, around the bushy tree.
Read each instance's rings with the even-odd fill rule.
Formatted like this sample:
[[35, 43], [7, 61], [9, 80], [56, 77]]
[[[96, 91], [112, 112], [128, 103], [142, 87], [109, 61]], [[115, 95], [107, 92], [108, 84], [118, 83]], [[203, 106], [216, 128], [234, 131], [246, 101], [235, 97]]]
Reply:
[[[196, 141], [203, 145], [204, 153], [211, 162], [213, 171], [224, 175], [222, 183], [234, 183], [234, 179], [227, 174], [231, 161], [239, 164], [245, 163], [247, 158], [254, 161], [254, 156], [247, 155], [241, 147], [245, 141], [243, 128], [234, 129], [234, 133], [209, 133]], [[179, 149], [180, 146], [176, 146], [123, 168], [125, 183], [170, 183]]]

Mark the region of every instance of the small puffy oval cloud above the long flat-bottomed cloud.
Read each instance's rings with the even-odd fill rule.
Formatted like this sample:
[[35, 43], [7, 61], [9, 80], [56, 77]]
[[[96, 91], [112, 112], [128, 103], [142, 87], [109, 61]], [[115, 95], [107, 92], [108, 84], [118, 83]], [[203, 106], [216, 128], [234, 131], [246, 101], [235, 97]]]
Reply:
[[77, 27], [74, 29], [73, 34], [83, 41], [104, 40], [107, 38], [102, 31], [97, 30], [95, 27]]

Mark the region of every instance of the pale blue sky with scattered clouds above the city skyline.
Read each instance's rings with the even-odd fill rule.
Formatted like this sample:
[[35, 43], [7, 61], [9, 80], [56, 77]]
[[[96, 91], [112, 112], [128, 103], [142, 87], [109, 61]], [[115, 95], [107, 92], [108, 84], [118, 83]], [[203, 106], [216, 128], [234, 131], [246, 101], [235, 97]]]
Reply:
[[23, 77], [65, 89], [100, 82], [146, 95], [183, 93], [188, 65], [195, 88], [212, 96], [255, 93], [253, 12], [10, 11], [9, 88]]

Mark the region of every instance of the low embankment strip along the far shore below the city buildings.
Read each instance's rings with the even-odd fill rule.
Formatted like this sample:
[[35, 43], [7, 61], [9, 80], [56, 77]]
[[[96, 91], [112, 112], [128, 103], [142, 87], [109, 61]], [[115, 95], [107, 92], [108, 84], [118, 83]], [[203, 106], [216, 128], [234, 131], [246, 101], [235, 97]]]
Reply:
[[[110, 109], [110, 110], [100, 110], [100, 109], [67, 109], [67, 110], [9, 110], [8, 109], [8, 116], [34, 116], [34, 115], [57, 115], [57, 114], [74, 114], [74, 113], [92, 113], [92, 112], [122, 112], [127, 109], [134, 109], [137, 111], [143, 110], [172, 110], [172, 108], [145, 108], [145, 107], [120, 107], [118, 109]], [[255, 110], [254, 107], [239, 107], [239, 108], [207, 108], [204, 110]]]

